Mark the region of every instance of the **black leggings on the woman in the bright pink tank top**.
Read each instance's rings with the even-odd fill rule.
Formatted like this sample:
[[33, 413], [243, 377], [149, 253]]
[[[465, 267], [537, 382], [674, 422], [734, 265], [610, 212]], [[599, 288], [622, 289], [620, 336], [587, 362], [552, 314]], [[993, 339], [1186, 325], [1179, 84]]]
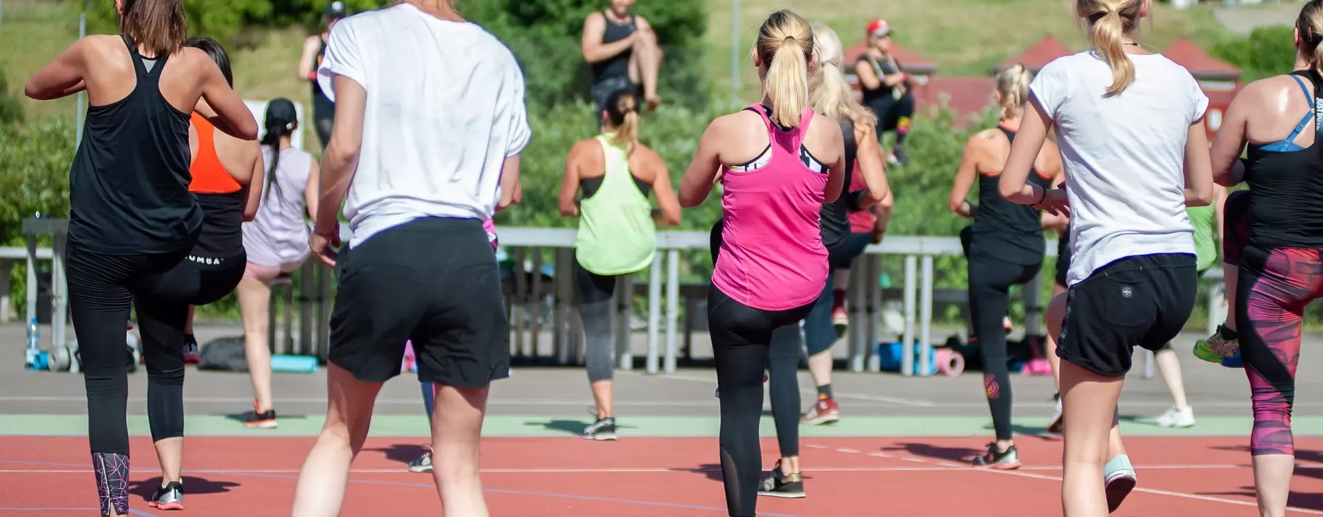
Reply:
[[762, 311], [730, 299], [716, 287], [708, 290], [708, 332], [721, 390], [721, 473], [726, 508], [733, 517], [751, 517], [757, 505], [762, 475], [758, 443], [762, 372], [767, 368], [771, 335], [804, 319], [811, 308], [812, 304], [806, 304], [786, 311]]

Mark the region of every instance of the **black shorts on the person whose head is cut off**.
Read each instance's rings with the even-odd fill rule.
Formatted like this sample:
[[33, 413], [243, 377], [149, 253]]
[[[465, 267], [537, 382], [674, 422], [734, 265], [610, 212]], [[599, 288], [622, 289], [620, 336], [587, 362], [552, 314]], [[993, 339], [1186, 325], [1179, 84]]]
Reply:
[[360, 381], [400, 374], [413, 341], [418, 379], [484, 387], [509, 377], [509, 323], [482, 221], [425, 217], [343, 249], [331, 364]]

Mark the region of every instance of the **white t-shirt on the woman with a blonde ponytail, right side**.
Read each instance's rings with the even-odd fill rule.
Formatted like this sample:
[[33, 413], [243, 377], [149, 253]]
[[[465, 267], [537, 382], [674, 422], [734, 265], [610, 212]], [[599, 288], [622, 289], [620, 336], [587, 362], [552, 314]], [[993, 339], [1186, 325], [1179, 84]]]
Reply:
[[1208, 97], [1162, 54], [1129, 54], [1135, 82], [1107, 97], [1091, 52], [1044, 66], [1029, 91], [1056, 122], [1070, 198], [1070, 286], [1126, 257], [1195, 254], [1185, 216], [1185, 143]]

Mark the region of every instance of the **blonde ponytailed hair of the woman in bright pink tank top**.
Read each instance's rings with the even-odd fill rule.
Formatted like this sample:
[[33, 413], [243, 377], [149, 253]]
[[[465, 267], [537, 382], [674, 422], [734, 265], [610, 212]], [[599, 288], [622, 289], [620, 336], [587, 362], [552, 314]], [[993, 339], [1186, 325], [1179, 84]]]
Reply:
[[758, 29], [757, 50], [763, 66], [767, 66], [763, 85], [771, 99], [771, 120], [782, 127], [799, 126], [799, 116], [808, 106], [812, 29], [792, 11], [777, 11]]

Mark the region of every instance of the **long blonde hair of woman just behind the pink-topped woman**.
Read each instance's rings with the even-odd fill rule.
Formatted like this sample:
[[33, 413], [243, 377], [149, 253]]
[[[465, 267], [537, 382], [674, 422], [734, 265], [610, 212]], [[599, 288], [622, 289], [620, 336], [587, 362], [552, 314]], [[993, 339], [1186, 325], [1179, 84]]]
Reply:
[[855, 91], [841, 71], [844, 52], [836, 32], [814, 24], [814, 56], [818, 66], [808, 75], [808, 103], [818, 115], [832, 120], [848, 118], [859, 128], [873, 127], [877, 118], [855, 99]]

